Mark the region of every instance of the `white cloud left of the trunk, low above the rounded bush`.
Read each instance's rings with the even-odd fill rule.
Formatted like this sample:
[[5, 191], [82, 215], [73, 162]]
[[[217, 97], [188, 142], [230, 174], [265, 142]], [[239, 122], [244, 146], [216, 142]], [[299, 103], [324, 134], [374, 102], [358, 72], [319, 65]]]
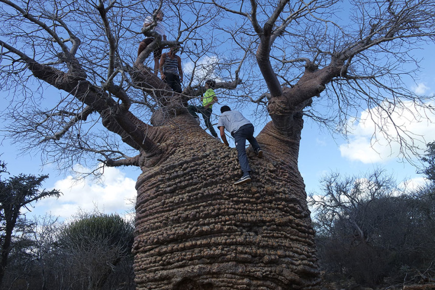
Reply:
[[74, 180], [73, 176], [55, 182], [53, 188], [62, 192], [58, 198], [43, 199], [37, 208], [61, 218], [68, 218], [79, 210], [93, 212], [98, 209], [104, 213], [125, 214], [132, 210], [131, 200], [136, 197], [136, 182], [125, 176], [118, 168], [104, 169], [102, 183], [90, 177]]

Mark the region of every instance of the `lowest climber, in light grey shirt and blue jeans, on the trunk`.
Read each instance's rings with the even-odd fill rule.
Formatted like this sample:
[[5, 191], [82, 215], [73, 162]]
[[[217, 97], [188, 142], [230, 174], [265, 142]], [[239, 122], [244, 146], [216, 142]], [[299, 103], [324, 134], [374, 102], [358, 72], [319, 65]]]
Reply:
[[243, 117], [242, 113], [236, 110], [231, 110], [229, 106], [221, 107], [221, 116], [217, 122], [217, 128], [221, 131], [221, 138], [225, 145], [230, 146], [225, 136], [225, 130], [231, 133], [234, 138], [235, 148], [238, 154], [238, 163], [243, 171], [241, 179], [234, 184], [244, 184], [251, 181], [251, 168], [246, 155], [245, 143], [246, 140], [252, 145], [255, 154], [258, 158], [263, 157], [263, 150], [257, 143], [254, 135], [254, 126], [248, 119]]

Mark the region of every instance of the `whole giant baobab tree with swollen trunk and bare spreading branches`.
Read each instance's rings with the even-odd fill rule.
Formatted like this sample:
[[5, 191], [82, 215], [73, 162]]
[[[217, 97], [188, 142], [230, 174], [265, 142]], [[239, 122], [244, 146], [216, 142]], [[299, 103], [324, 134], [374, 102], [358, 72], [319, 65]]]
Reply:
[[[412, 50], [434, 39], [433, 1], [0, 2], [8, 136], [60, 168], [92, 160], [142, 170], [133, 246], [139, 289], [318, 289], [298, 171], [304, 116], [345, 128], [359, 108], [430, 109], [401, 76], [414, 72], [406, 66], [417, 60]], [[141, 30], [159, 7], [167, 40]], [[144, 35], [156, 38], [136, 58]], [[156, 47], [176, 44], [181, 94], [147, 66]], [[257, 135], [264, 158], [247, 148], [248, 185], [233, 184], [235, 149], [187, 113], [210, 77], [221, 103], [266, 124]], [[391, 138], [412, 150], [411, 132], [397, 132]]]

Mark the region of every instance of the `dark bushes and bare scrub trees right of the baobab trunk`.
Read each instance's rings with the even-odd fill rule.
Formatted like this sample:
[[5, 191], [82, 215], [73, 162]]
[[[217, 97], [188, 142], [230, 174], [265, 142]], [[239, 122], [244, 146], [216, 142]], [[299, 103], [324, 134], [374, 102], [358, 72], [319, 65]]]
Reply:
[[[377, 170], [364, 177], [331, 174], [311, 195], [320, 265], [330, 279], [354, 278], [371, 287], [435, 282], [433, 143], [423, 161], [430, 183], [398, 187]], [[323, 195], [324, 194], [324, 195]]]

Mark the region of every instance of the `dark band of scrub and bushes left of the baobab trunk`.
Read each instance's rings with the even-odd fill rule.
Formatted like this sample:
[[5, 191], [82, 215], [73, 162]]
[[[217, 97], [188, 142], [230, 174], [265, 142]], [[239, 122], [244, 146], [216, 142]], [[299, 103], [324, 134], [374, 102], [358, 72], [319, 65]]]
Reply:
[[5, 289], [136, 288], [130, 222], [114, 214], [80, 213], [72, 222], [45, 216], [33, 225], [13, 240]]

